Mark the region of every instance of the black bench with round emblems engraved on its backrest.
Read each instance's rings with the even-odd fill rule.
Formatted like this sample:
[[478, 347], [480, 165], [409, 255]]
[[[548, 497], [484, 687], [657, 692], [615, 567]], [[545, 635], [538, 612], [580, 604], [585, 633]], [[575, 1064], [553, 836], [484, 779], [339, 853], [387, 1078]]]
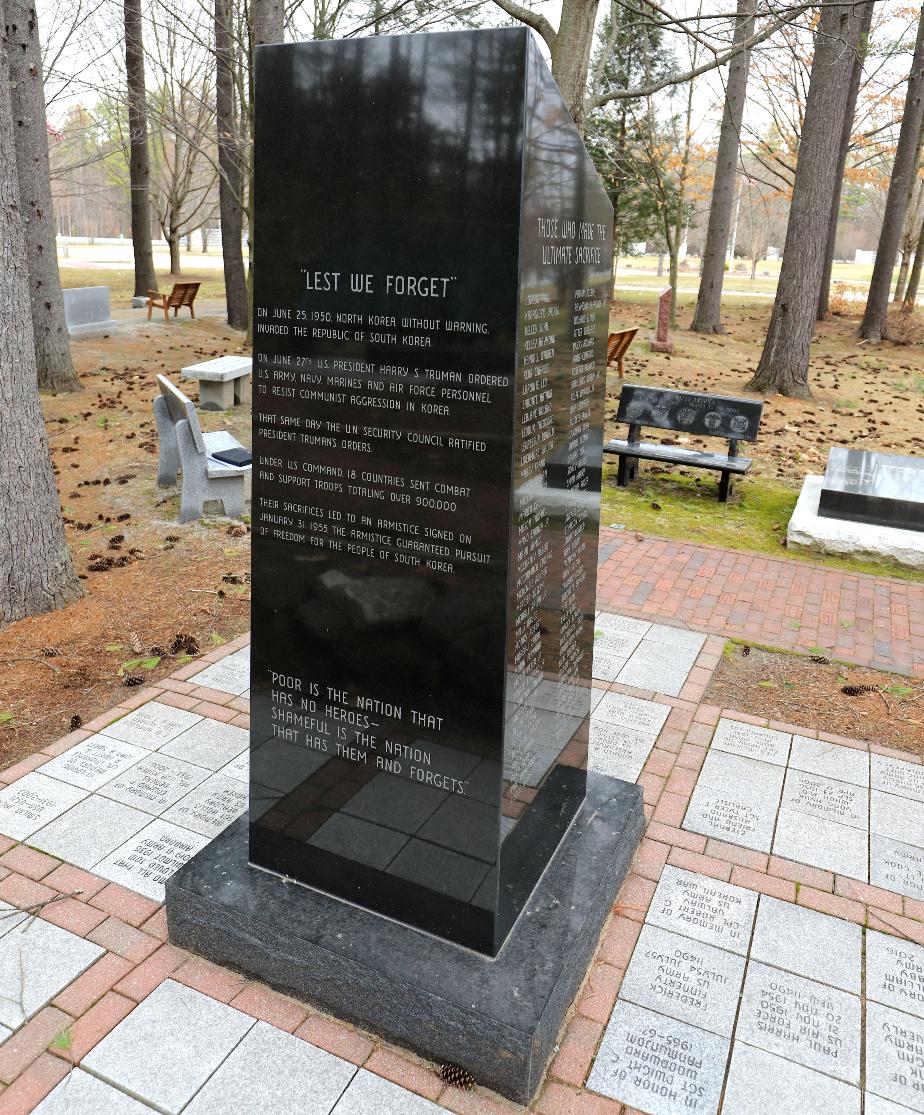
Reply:
[[[714, 469], [722, 474], [719, 500], [724, 503], [731, 493], [732, 476], [743, 475], [751, 466], [749, 457], [738, 456], [738, 443], [757, 440], [762, 411], [763, 404], [756, 399], [626, 384], [620, 396], [616, 421], [628, 423], [629, 438], [607, 442], [603, 452], [619, 456], [616, 484], [621, 487], [635, 478], [640, 459]], [[728, 453], [703, 453], [682, 445], [642, 442], [640, 433], [645, 427], [727, 438]]]

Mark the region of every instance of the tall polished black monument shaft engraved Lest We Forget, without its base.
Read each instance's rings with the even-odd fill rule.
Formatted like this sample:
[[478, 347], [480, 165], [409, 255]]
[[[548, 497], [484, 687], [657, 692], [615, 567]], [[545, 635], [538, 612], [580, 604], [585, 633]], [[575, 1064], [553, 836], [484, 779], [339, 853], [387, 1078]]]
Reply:
[[256, 80], [251, 860], [493, 954], [584, 797], [612, 210], [525, 29]]

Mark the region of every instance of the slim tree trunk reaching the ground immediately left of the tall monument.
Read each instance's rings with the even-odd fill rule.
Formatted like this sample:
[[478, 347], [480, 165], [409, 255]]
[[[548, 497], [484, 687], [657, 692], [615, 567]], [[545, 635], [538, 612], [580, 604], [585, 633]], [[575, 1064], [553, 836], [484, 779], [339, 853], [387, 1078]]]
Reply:
[[231, 4], [215, 0], [215, 119], [218, 146], [218, 212], [222, 221], [225, 301], [227, 323], [247, 328], [247, 280], [244, 273], [243, 207], [244, 176], [234, 114], [234, 37]]

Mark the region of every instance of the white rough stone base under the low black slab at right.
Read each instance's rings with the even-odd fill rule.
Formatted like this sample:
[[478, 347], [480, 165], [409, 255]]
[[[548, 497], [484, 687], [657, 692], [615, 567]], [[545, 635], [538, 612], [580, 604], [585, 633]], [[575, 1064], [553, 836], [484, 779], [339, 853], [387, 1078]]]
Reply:
[[899, 565], [924, 569], [924, 533], [897, 526], [825, 518], [818, 514], [823, 483], [821, 476], [806, 476], [803, 483], [786, 532], [786, 543], [790, 549], [848, 554], [868, 561], [887, 559]]

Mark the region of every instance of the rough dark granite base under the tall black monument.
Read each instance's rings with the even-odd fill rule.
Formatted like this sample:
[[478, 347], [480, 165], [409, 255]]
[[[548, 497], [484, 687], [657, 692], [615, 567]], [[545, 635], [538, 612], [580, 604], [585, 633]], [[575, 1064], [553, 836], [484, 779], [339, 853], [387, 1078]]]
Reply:
[[169, 939], [528, 1103], [643, 828], [640, 788], [589, 774], [492, 960], [251, 866], [244, 816], [168, 880]]

